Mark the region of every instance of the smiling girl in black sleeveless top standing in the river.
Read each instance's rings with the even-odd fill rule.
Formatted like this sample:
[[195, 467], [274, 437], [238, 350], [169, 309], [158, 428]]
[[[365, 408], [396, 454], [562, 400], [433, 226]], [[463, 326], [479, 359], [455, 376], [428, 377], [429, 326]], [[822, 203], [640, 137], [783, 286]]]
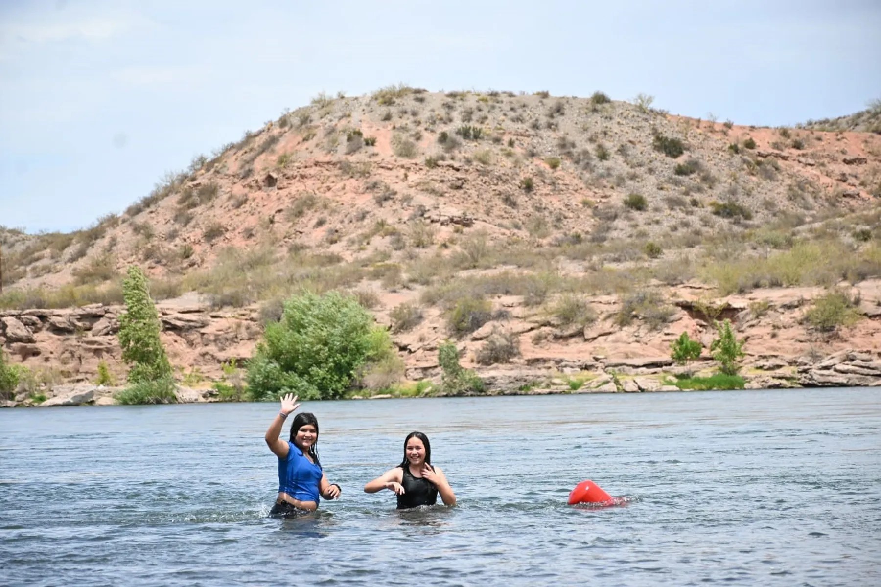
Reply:
[[422, 432], [411, 432], [403, 441], [403, 460], [394, 469], [364, 486], [366, 493], [389, 489], [397, 495], [397, 509], [434, 505], [438, 494], [445, 505], [455, 505], [453, 488], [440, 466], [432, 466], [432, 445]]

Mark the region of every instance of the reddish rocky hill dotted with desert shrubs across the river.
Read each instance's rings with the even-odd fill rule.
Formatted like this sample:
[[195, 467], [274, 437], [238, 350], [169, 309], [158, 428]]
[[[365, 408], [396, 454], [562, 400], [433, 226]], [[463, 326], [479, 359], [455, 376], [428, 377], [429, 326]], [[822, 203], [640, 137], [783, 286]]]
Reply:
[[657, 370], [678, 334], [708, 342], [729, 317], [765, 385], [819, 385], [798, 370], [877, 361], [878, 202], [871, 133], [699, 121], [601, 92], [321, 95], [122, 215], [0, 231], [0, 342], [47, 379], [92, 379], [100, 360], [122, 374], [115, 305], [137, 263], [167, 300], [181, 377], [247, 358], [310, 288], [358, 295], [410, 379], [437, 374], [444, 338], [502, 386]]

